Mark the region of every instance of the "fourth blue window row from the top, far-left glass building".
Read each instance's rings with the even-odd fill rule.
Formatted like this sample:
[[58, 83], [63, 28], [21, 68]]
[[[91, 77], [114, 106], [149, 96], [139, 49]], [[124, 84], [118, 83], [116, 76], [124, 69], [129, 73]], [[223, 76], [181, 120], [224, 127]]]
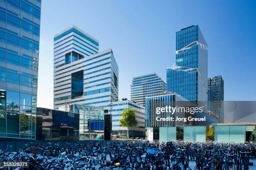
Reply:
[[8, 62], [10, 64], [18, 65], [21, 67], [26, 67], [32, 70], [38, 70], [38, 59], [24, 54], [21, 54], [20, 56], [18, 55], [18, 52], [8, 50], [2, 47], [0, 47], [0, 61]]

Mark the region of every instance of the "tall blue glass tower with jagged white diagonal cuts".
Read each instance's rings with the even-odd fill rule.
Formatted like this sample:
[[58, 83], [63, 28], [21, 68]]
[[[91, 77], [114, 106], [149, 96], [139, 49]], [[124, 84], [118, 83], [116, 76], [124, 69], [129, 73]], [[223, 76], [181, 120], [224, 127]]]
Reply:
[[176, 62], [167, 68], [167, 92], [207, 101], [207, 43], [198, 25], [176, 32]]

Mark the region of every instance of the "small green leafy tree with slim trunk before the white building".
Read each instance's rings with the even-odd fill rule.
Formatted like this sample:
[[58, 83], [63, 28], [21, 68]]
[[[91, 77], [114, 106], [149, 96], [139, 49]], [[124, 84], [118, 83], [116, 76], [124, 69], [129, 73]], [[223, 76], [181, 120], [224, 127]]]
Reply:
[[129, 128], [134, 127], [138, 124], [135, 118], [135, 111], [134, 109], [127, 108], [123, 110], [122, 118], [119, 120], [120, 125], [127, 128], [127, 137], [129, 138]]

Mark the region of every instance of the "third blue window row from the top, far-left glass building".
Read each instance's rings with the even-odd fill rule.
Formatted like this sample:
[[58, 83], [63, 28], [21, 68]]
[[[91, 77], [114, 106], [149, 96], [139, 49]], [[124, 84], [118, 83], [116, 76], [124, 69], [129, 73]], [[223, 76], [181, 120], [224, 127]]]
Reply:
[[[0, 29], [3, 30], [3, 28], [0, 28]], [[35, 53], [39, 52], [39, 42], [32, 40], [31, 38], [28, 38], [26, 36], [20, 37], [18, 33], [15, 33], [12, 31], [7, 30], [7, 32], [12, 33], [10, 34], [1, 30], [0, 30], [0, 41], [7, 42], [11, 45], [21, 47], [31, 52], [35, 52]]]

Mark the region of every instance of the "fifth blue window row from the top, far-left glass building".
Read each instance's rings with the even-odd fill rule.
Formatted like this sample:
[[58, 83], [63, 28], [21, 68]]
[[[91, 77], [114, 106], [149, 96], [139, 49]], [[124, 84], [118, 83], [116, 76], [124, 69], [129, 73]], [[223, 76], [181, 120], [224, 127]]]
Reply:
[[0, 67], [0, 80], [37, 88], [37, 76]]

